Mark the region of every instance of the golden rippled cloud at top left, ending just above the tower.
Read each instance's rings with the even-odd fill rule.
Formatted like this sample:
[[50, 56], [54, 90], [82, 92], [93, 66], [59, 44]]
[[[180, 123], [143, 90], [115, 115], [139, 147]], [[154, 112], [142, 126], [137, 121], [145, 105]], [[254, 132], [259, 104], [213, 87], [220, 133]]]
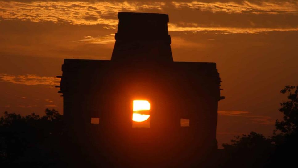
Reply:
[[37, 1], [0, 2], [0, 17], [4, 19], [52, 21], [71, 24], [105, 24], [116, 26], [119, 11], [142, 11], [162, 9], [164, 2], [67, 2]]

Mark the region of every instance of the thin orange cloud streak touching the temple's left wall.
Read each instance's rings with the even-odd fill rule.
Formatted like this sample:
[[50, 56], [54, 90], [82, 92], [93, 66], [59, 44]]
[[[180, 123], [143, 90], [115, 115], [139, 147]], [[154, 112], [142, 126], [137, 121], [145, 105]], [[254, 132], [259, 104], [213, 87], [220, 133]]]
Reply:
[[0, 80], [23, 85], [59, 85], [60, 78], [40, 77], [37, 75], [8, 75], [0, 74]]

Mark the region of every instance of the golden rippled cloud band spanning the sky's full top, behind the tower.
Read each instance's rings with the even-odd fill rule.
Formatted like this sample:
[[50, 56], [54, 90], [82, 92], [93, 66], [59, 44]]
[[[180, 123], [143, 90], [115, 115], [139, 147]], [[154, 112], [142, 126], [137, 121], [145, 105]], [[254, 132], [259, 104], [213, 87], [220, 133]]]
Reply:
[[[0, 1], [0, 8], [0, 18], [5, 20], [101, 24], [109, 30], [117, 29], [117, 14], [126, 11], [168, 13], [171, 21], [169, 31], [220, 31], [222, 34], [298, 31], [297, 22], [294, 21], [298, 13], [297, 1]], [[93, 43], [96, 40], [86, 39], [86, 42]]]

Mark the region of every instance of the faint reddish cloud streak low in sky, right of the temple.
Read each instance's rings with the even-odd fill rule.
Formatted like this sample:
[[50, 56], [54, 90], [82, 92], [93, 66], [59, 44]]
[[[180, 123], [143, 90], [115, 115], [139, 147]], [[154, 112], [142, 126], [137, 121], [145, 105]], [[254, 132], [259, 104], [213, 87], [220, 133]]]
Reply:
[[246, 117], [252, 123], [263, 124], [263, 125], [273, 125], [275, 124], [275, 120], [273, 120], [269, 116], [263, 115], [251, 115], [248, 111], [218, 111], [218, 115], [222, 116], [233, 116], [233, 117]]

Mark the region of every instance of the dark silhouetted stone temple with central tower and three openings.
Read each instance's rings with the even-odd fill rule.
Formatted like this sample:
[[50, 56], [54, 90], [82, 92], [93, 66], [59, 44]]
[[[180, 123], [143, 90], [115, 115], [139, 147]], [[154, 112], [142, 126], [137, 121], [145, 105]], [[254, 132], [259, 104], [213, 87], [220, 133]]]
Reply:
[[[166, 14], [118, 18], [111, 60], [62, 65], [65, 159], [94, 167], [212, 165], [224, 99], [216, 64], [174, 62]], [[132, 120], [134, 100], [150, 103], [144, 126]]]

